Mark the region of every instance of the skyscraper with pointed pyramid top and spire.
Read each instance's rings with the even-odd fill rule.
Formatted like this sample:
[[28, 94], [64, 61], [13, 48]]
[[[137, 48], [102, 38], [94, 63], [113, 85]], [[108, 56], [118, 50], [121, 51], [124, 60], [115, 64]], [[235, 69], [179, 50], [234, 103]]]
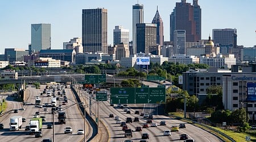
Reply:
[[156, 44], [163, 45], [164, 36], [163, 36], [163, 20], [159, 15], [158, 8], [156, 8], [155, 17], [152, 20], [152, 24], [157, 24], [156, 28]]

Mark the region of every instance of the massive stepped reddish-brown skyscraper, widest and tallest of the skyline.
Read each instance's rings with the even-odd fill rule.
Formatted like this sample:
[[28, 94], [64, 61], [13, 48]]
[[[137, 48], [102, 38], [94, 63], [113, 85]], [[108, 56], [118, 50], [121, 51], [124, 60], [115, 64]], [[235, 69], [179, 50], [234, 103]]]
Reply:
[[176, 2], [170, 15], [170, 40], [174, 41], [174, 31], [185, 30], [186, 41], [195, 42], [201, 37], [201, 8], [197, 0], [187, 3], [185, 0]]

